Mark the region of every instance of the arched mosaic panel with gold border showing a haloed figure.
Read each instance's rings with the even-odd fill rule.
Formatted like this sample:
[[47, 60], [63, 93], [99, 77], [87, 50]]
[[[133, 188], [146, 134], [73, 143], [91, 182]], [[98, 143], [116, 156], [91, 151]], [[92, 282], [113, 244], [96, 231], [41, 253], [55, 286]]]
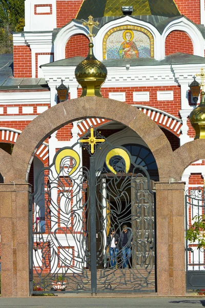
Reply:
[[154, 57], [154, 38], [150, 31], [125, 25], [110, 29], [103, 41], [103, 59]]

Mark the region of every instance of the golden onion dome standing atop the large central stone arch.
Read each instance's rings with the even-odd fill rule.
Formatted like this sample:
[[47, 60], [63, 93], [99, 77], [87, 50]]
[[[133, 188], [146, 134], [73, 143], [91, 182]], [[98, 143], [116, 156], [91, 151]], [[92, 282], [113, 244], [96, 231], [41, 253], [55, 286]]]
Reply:
[[100, 87], [107, 77], [107, 68], [98, 61], [93, 54], [93, 43], [89, 43], [89, 53], [85, 60], [80, 62], [75, 69], [75, 78], [83, 91], [80, 97], [101, 97]]

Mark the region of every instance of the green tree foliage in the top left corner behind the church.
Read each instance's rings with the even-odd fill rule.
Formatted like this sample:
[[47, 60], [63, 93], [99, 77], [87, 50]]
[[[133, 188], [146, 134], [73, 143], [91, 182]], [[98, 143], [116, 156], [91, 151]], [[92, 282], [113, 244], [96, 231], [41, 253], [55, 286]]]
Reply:
[[25, 0], [0, 0], [0, 53], [12, 53], [11, 32], [24, 29]]

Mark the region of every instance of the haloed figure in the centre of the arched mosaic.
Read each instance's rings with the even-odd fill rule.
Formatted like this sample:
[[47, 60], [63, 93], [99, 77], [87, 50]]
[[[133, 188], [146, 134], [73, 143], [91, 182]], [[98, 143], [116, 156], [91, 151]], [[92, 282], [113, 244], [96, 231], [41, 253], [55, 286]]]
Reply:
[[121, 43], [119, 48], [120, 58], [137, 58], [139, 56], [139, 52], [137, 49], [137, 45], [133, 42], [133, 31], [126, 30], [123, 32], [122, 36], [124, 38], [124, 42]]

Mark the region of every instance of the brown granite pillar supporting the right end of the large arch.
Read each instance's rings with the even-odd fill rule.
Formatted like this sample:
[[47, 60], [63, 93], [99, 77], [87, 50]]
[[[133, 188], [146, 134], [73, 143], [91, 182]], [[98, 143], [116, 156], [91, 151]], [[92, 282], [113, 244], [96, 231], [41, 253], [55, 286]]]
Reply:
[[185, 183], [156, 182], [157, 294], [185, 296]]

